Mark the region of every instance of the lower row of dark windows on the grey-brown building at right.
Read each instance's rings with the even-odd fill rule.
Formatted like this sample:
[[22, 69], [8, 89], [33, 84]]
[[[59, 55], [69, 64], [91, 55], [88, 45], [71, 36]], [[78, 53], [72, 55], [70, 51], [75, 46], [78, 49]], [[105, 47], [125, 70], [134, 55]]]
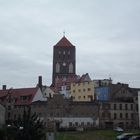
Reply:
[[[103, 118], [111, 118], [111, 113], [102, 113]], [[134, 119], [134, 114], [133, 113], [114, 113], [113, 114], [113, 119]]]

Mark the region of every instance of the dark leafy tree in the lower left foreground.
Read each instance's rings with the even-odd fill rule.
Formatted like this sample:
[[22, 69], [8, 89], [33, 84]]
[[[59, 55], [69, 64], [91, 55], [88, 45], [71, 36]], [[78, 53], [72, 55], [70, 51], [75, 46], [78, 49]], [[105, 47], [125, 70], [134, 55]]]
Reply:
[[[37, 114], [31, 114], [31, 110], [24, 110], [23, 117], [11, 127], [15, 130], [14, 140], [44, 140], [46, 128], [43, 121]], [[16, 129], [15, 129], [16, 128]], [[11, 138], [10, 138], [11, 139]], [[8, 139], [8, 140], [10, 140]]]

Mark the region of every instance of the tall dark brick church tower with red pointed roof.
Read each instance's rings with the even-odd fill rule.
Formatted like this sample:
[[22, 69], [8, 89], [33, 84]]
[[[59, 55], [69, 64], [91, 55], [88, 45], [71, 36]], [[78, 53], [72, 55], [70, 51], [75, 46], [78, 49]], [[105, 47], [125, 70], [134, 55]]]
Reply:
[[63, 36], [53, 47], [53, 75], [52, 83], [57, 78], [68, 78], [75, 76], [76, 70], [75, 46]]

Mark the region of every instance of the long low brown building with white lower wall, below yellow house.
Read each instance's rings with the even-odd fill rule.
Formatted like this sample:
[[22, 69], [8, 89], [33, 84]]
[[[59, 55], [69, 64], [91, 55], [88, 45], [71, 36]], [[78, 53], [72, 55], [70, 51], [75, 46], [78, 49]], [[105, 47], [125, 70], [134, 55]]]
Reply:
[[44, 122], [54, 121], [60, 128], [99, 126], [99, 106], [95, 102], [73, 102], [55, 94], [53, 98], [48, 98], [47, 102], [33, 102], [31, 110], [39, 114]]

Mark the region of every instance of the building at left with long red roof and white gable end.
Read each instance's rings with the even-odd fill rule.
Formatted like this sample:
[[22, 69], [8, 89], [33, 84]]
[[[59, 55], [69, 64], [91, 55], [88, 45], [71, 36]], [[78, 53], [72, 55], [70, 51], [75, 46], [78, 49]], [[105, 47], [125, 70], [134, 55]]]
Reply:
[[17, 120], [23, 116], [24, 110], [35, 101], [44, 101], [42, 92], [38, 87], [0, 90], [0, 103], [5, 107], [6, 122]]

